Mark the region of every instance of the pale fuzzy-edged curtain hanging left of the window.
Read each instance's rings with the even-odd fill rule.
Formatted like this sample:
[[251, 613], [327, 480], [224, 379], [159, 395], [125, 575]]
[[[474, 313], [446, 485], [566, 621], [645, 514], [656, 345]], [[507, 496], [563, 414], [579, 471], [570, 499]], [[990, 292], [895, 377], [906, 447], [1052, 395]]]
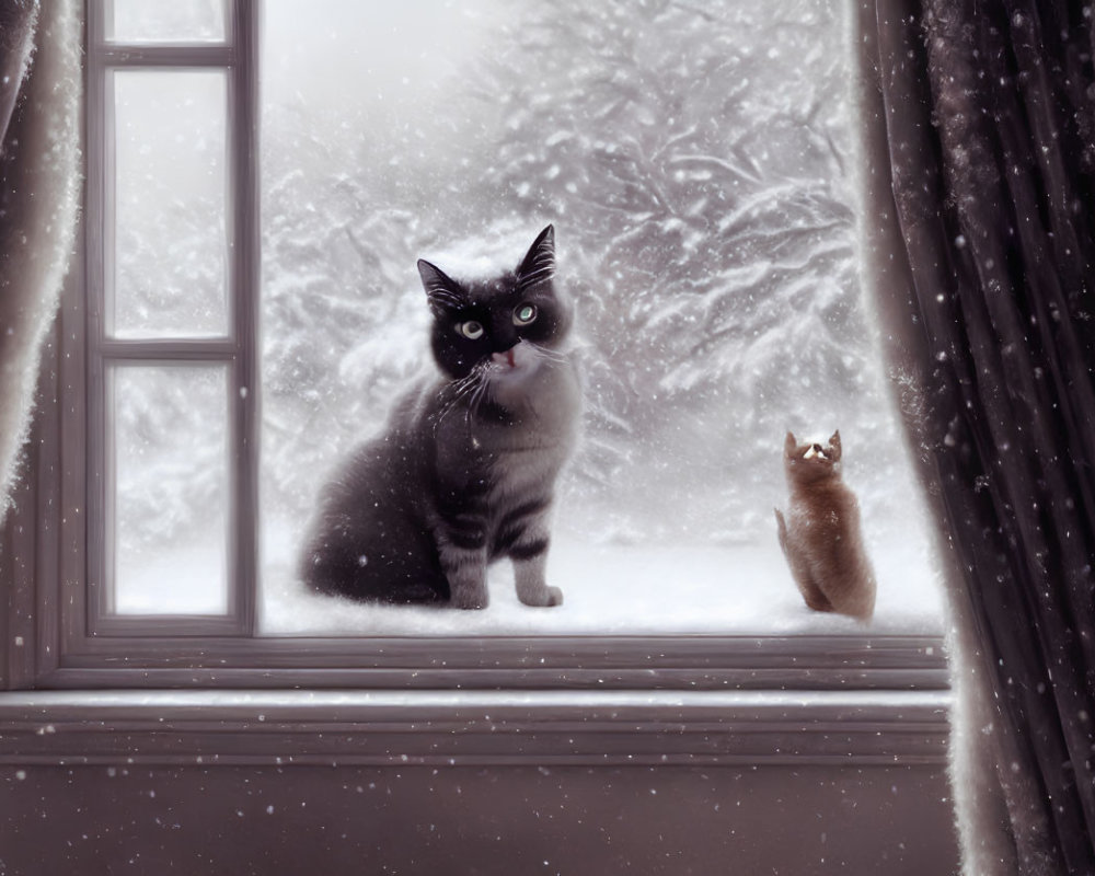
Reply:
[[76, 240], [82, 4], [0, 0], [0, 53], [2, 518]]

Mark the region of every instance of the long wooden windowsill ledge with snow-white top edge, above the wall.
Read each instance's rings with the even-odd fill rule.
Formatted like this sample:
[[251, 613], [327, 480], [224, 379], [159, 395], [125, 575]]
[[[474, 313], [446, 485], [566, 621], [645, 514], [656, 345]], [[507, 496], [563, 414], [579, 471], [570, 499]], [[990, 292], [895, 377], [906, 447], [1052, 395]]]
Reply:
[[941, 765], [948, 691], [0, 693], [0, 763]]

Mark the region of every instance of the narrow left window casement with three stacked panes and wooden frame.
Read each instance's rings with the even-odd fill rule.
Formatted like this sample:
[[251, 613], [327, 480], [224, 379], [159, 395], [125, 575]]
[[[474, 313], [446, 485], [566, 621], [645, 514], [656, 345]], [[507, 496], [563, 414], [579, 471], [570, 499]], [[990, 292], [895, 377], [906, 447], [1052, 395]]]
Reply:
[[170, 21], [120, 2], [89, 13], [88, 633], [244, 635], [255, 587], [254, 10], [194, 3]]

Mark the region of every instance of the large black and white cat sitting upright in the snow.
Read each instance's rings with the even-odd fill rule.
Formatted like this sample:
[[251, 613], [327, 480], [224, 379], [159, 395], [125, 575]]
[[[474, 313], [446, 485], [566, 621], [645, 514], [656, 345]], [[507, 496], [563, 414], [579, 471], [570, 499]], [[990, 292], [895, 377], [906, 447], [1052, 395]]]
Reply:
[[477, 609], [487, 564], [508, 556], [521, 602], [557, 606], [562, 592], [544, 579], [549, 512], [580, 391], [553, 228], [516, 272], [456, 280], [419, 261], [418, 273], [440, 374], [406, 394], [323, 489], [301, 577], [354, 599]]

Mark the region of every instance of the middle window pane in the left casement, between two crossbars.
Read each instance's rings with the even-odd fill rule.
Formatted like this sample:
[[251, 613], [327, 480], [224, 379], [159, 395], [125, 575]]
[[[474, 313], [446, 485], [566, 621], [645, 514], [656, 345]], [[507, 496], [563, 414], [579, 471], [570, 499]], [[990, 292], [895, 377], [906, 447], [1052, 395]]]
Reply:
[[229, 331], [226, 94], [219, 71], [114, 73], [117, 337]]

